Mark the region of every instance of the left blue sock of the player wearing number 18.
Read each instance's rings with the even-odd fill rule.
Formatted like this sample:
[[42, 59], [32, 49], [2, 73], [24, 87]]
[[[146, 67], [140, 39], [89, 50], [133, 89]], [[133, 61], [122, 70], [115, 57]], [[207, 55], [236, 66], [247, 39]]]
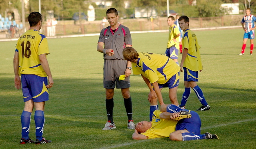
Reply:
[[25, 140], [28, 140], [28, 134], [29, 134], [29, 130], [30, 130], [30, 116], [31, 116], [31, 112], [28, 111], [23, 111], [21, 114], [21, 127], [22, 127], [22, 131], [21, 131], [21, 137]]

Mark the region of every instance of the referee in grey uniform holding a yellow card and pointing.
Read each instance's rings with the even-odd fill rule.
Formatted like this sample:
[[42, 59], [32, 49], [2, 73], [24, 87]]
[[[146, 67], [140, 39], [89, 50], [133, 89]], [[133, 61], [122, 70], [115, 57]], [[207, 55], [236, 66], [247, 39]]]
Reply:
[[[131, 63], [124, 60], [123, 49], [132, 46], [132, 38], [129, 28], [119, 24], [118, 12], [115, 8], [110, 8], [106, 12], [110, 26], [101, 30], [97, 51], [104, 55], [104, 79], [103, 84], [106, 89], [106, 109], [108, 121], [103, 130], [115, 129], [113, 121], [114, 108], [114, 88], [120, 88], [124, 98], [124, 107], [128, 117], [128, 129], [135, 129], [132, 120], [132, 98], [130, 96]], [[103, 48], [104, 47], [104, 48]], [[119, 80], [120, 75], [125, 75], [124, 80]]]

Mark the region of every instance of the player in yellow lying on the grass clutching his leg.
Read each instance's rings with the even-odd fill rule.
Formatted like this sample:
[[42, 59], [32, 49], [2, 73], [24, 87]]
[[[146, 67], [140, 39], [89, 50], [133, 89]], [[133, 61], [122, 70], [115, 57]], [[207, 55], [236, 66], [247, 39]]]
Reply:
[[183, 110], [176, 105], [162, 105], [161, 111], [154, 111], [151, 122], [137, 123], [132, 139], [158, 137], [169, 137], [170, 140], [176, 141], [219, 139], [216, 134], [200, 133], [201, 120], [195, 111]]

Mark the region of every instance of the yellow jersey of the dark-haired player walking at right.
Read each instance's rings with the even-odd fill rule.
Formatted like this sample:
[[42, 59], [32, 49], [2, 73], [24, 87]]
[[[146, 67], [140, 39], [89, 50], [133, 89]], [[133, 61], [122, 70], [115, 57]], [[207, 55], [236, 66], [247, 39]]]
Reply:
[[188, 68], [194, 72], [198, 70], [203, 70], [201, 55], [200, 55], [200, 45], [197, 42], [197, 37], [195, 33], [190, 29], [187, 29], [184, 32], [182, 37], [182, 46], [183, 48], [188, 49], [188, 55], [183, 63], [183, 67]]

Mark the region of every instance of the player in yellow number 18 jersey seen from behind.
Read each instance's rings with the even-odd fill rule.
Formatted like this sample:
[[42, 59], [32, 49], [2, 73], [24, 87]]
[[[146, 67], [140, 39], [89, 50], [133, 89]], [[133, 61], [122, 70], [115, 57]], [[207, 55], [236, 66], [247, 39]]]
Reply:
[[48, 89], [53, 86], [52, 74], [46, 59], [46, 55], [50, 53], [46, 36], [38, 32], [42, 26], [42, 15], [39, 12], [31, 12], [28, 16], [28, 22], [30, 28], [19, 37], [13, 58], [15, 87], [17, 89], [22, 88], [25, 102], [24, 111], [21, 114], [22, 138], [20, 143], [34, 143], [28, 134], [31, 113], [35, 107], [35, 143], [45, 144], [52, 142], [42, 137], [44, 129], [44, 102], [49, 100]]

